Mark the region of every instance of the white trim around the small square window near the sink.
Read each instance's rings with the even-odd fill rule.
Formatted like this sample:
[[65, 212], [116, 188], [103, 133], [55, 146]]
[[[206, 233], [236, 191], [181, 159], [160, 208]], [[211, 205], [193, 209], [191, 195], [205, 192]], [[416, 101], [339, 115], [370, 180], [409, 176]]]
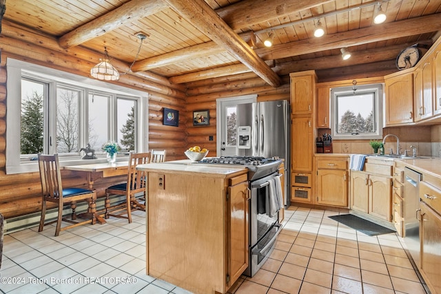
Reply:
[[356, 91], [367, 91], [367, 90], [373, 90], [376, 92], [376, 101], [375, 101], [375, 112], [376, 112], [376, 120], [375, 123], [377, 125], [377, 132], [375, 134], [338, 134], [337, 133], [337, 103], [336, 103], [336, 97], [337, 94], [342, 93], [349, 93], [353, 92], [353, 87], [336, 87], [332, 88], [330, 91], [330, 98], [331, 98], [331, 116], [329, 116], [330, 119], [330, 126], [331, 126], [331, 136], [333, 140], [373, 140], [373, 139], [381, 139], [383, 134], [383, 112], [382, 109], [384, 107], [383, 101], [384, 101], [384, 84], [378, 83], [378, 84], [372, 84], [372, 85], [360, 85], [356, 87]]

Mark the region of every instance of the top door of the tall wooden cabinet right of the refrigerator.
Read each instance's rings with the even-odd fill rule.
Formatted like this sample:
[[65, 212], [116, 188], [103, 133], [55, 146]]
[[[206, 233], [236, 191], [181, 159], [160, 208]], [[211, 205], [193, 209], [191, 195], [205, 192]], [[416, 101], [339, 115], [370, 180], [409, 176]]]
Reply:
[[313, 75], [291, 77], [292, 114], [312, 114], [315, 87]]

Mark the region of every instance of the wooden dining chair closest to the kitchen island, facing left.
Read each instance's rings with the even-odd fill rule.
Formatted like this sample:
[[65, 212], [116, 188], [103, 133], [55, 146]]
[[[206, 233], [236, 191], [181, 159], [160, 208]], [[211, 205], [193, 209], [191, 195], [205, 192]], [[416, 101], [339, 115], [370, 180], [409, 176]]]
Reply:
[[[114, 216], [116, 218], [127, 218], [132, 222], [132, 210], [145, 211], [145, 204], [141, 204], [135, 195], [143, 193], [145, 198], [145, 185], [147, 184], [147, 175], [145, 171], [136, 169], [137, 165], [148, 163], [150, 152], [134, 153], [129, 156], [129, 165], [127, 171], [127, 182], [119, 185], [113, 185], [105, 190], [105, 218]], [[110, 207], [110, 195], [125, 195], [123, 204]], [[122, 212], [123, 211], [123, 212]], [[125, 214], [127, 213], [127, 216]]]

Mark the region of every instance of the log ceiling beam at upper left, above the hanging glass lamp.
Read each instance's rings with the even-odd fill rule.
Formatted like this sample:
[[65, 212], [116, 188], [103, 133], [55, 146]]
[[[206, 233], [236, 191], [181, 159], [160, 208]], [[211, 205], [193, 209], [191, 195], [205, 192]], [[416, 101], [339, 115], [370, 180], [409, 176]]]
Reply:
[[121, 25], [155, 14], [165, 8], [168, 8], [167, 3], [162, 0], [129, 1], [119, 8], [64, 34], [59, 39], [59, 45], [61, 48], [79, 45], [96, 38], [96, 36], [115, 30]]

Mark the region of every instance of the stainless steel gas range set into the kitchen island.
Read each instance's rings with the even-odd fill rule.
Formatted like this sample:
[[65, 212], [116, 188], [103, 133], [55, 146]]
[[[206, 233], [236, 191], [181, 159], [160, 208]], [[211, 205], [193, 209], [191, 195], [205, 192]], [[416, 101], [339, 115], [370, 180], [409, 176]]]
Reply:
[[[198, 163], [242, 165], [248, 169], [251, 191], [249, 199], [249, 265], [244, 275], [252, 277], [273, 251], [277, 235], [280, 233], [278, 214], [280, 208], [283, 207], [283, 202], [280, 202], [276, 209], [268, 211], [267, 201], [271, 197], [270, 185], [274, 185], [274, 180], [282, 176], [278, 173], [278, 167], [282, 160], [257, 156], [223, 156], [204, 158]], [[280, 191], [281, 189], [282, 187], [280, 187]]]

